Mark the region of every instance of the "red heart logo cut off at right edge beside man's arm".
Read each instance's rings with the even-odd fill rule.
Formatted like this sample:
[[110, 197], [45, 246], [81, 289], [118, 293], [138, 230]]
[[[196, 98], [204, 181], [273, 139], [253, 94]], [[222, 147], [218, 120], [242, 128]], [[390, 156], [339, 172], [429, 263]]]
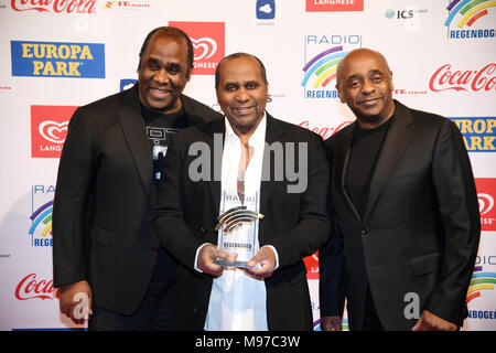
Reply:
[[481, 213], [481, 229], [496, 231], [496, 179], [476, 178], [475, 186], [477, 189], [478, 212]]

